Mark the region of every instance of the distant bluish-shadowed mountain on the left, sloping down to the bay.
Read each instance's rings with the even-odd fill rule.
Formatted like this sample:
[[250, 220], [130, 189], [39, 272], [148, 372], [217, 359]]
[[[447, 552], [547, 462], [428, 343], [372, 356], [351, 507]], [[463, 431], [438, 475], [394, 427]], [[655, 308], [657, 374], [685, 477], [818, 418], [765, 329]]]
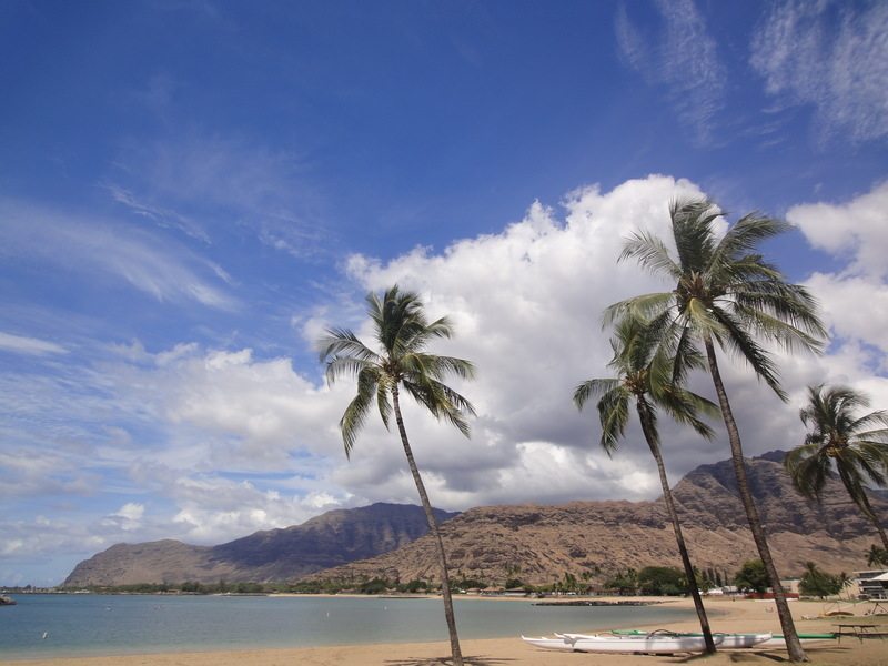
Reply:
[[[438, 521], [456, 514], [437, 511]], [[220, 546], [165, 539], [118, 544], [74, 567], [62, 585], [276, 582], [394, 551], [428, 532], [418, 506], [331, 511], [302, 525], [256, 532]]]

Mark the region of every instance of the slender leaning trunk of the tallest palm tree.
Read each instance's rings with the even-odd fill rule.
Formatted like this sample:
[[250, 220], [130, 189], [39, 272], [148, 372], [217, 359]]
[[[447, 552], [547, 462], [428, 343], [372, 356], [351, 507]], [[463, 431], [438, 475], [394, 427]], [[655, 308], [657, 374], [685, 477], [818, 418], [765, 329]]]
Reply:
[[786, 594], [780, 585], [780, 576], [777, 573], [777, 567], [774, 565], [774, 558], [770, 555], [770, 547], [768, 539], [765, 536], [765, 529], [761, 526], [761, 519], [758, 516], [758, 508], [756, 508], [753, 492], [749, 490], [749, 480], [746, 477], [746, 461], [743, 455], [743, 443], [740, 442], [740, 431], [737, 427], [737, 422], [734, 420], [734, 413], [730, 410], [728, 402], [728, 394], [725, 391], [725, 384], [722, 381], [722, 373], [718, 371], [718, 362], [715, 357], [715, 346], [713, 340], [706, 336], [704, 340], [706, 345], [706, 357], [709, 362], [709, 373], [713, 375], [713, 384], [718, 394], [718, 404], [722, 407], [722, 417], [725, 421], [725, 428], [728, 432], [728, 442], [730, 444], [730, 460], [734, 463], [734, 475], [737, 478], [737, 490], [740, 493], [743, 506], [746, 509], [746, 519], [749, 523], [749, 531], [753, 533], [753, 539], [758, 548], [758, 555], [761, 563], [765, 565], [765, 571], [768, 574], [771, 591], [774, 592], [774, 602], [777, 606], [777, 616], [780, 618], [780, 628], [786, 639], [786, 647], [789, 653], [790, 662], [808, 662], [805, 650], [801, 648], [801, 643], [798, 639], [796, 625], [793, 622], [793, 615], [789, 612], [789, 604], [786, 602]]

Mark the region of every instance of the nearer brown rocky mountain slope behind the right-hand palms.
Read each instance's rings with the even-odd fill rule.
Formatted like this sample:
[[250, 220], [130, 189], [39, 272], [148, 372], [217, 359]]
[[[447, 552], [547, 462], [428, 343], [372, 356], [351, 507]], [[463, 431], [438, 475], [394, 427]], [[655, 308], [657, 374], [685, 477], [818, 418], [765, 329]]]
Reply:
[[[830, 483], [821, 506], [806, 502], [774, 457], [781, 456], [749, 461], [749, 477], [780, 573], [800, 575], [808, 561], [834, 573], [866, 568], [865, 553], [876, 543], [876, 534], [844, 487]], [[745, 561], [758, 557], [729, 461], [695, 470], [674, 494], [695, 566], [733, 574]], [[885, 515], [888, 502], [881, 497], [872, 502]], [[478, 507], [442, 525], [442, 535], [452, 569], [490, 584], [502, 585], [512, 577], [507, 572], [516, 569], [523, 582], [538, 585], [595, 567], [604, 572], [680, 567], [662, 501]], [[396, 552], [309, 578], [353, 576], [434, 579], [433, 544], [422, 537]]]

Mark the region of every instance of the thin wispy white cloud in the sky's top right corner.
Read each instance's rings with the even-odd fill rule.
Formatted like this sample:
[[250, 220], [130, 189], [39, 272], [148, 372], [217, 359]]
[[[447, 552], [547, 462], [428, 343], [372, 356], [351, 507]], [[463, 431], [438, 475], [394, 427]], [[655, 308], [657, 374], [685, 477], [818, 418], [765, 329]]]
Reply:
[[888, 137], [888, 4], [775, 4], [753, 40], [751, 64], [778, 104], [814, 107], [821, 142]]

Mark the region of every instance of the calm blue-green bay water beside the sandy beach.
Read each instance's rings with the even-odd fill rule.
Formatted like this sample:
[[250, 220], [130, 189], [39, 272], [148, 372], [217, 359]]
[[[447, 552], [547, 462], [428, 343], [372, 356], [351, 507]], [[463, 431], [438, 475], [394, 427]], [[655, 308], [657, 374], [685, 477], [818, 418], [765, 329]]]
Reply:
[[[0, 608], [0, 658], [212, 652], [446, 640], [440, 598], [17, 595]], [[536, 606], [456, 598], [461, 638], [668, 624], [660, 606]]]

